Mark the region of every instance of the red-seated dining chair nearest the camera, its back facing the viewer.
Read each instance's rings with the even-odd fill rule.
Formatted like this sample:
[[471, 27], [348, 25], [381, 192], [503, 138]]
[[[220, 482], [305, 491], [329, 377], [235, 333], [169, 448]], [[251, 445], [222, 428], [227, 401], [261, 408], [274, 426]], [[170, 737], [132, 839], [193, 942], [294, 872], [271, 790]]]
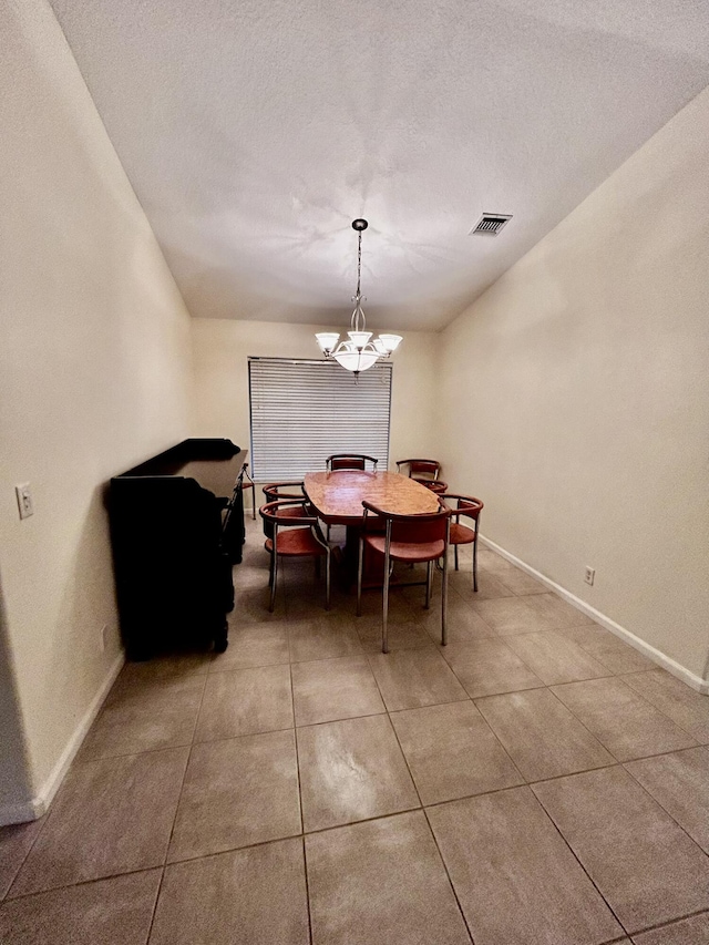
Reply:
[[[389, 653], [389, 583], [391, 569], [397, 561], [405, 564], [425, 564], [425, 607], [431, 604], [433, 566], [443, 561], [443, 582], [441, 590], [441, 645], [448, 644], [448, 544], [451, 510], [441, 503], [435, 512], [418, 515], [399, 515], [379, 509], [363, 501], [364, 520], [359, 541], [359, 562], [357, 569], [357, 616], [362, 614], [362, 572], [366, 548], [384, 556], [384, 585], [382, 590], [381, 650]], [[384, 524], [384, 533], [368, 531], [367, 518], [376, 515]]]

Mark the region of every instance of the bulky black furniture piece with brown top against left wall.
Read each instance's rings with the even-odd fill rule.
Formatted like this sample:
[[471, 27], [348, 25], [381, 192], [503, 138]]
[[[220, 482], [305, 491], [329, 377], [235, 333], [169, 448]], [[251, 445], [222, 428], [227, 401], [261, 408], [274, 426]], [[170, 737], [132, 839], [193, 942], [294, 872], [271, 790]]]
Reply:
[[111, 480], [109, 514], [129, 659], [227, 647], [242, 561], [247, 451], [184, 440]]

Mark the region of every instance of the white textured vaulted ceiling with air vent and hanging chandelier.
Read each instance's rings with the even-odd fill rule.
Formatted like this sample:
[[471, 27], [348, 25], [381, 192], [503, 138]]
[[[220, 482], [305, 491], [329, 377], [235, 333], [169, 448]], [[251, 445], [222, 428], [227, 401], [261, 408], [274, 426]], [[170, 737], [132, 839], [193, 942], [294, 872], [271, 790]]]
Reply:
[[194, 317], [345, 327], [363, 216], [440, 328], [709, 84], [709, 0], [52, 6]]

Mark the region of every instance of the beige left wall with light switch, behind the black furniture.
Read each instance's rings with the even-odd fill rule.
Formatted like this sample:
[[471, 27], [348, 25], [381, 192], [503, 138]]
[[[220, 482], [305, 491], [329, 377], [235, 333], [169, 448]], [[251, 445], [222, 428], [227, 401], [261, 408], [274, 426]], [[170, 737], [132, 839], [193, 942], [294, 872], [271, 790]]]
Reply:
[[9, 819], [41, 810], [120, 665], [103, 490], [188, 435], [192, 363], [187, 312], [49, 4], [3, 3], [0, 34], [0, 656], [14, 690], [0, 725], [24, 737], [2, 759]]

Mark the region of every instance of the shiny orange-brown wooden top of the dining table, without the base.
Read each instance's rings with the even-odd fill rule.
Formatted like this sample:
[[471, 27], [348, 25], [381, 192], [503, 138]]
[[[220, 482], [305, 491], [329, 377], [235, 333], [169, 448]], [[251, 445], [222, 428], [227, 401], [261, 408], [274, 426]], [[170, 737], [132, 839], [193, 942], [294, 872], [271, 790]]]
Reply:
[[326, 522], [354, 525], [362, 518], [362, 500], [398, 515], [435, 512], [439, 500], [424, 485], [399, 473], [336, 470], [306, 473], [305, 493]]

